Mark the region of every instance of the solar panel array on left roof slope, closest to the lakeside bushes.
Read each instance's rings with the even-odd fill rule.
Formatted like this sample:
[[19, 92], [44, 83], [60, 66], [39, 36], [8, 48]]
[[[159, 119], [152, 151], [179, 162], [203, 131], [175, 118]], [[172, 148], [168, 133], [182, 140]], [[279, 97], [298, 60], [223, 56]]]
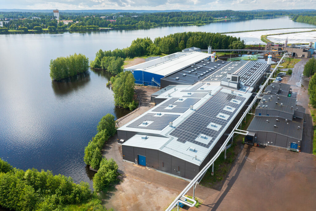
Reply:
[[[154, 113], [148, 113], [136, 121], [132, 122], [126, 127], [140, 128], [140, 129], [149, 129], [149, 130], [162, 130], [166, 126], [168, 126], [169, 122], [174, 121], [180, 115], [174, 114], [163, 114], [161, 116], [155, 116]], [[144, 121], [153, 121], [153, 123], [149, 124], [146, 127], [139, 126]]]

